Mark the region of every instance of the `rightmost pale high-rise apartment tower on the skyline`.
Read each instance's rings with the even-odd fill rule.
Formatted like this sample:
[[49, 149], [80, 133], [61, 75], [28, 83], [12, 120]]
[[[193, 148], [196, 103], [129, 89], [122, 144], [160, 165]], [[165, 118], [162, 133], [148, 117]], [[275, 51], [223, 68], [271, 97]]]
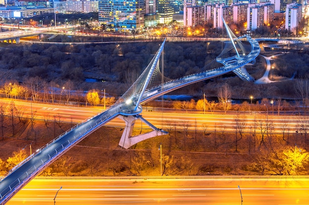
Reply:
[[296, 28], [302, 19], [302, 4], [297, 2], [286, 5], [285, 11], [285, 29], [296, 34]]

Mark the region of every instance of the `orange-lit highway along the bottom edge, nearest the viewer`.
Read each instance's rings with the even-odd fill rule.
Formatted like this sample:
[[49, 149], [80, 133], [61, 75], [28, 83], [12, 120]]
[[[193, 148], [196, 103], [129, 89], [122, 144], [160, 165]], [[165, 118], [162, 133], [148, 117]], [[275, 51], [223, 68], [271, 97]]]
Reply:
[[309, 179], [37, 177], [6, 205], [52, 205], [54, 198], [56, 205], [308, 205]]

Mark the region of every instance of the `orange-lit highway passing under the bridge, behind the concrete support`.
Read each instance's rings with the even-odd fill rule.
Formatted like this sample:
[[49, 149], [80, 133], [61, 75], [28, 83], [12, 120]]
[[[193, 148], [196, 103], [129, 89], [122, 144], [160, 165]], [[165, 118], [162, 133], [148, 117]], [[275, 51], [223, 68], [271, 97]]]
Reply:
[[[36, 119], [49, 119], [51, 121], [59, 119], [64, 122], [68, 123], [80, 123], [85, 119], [95, 116], [98, 113], [103, 111], [103, 107], [74, 107], [74, 106], [64, 106], [64, 105], [51, 105], [51, 104], [44, 104], [44, 103], [30, 103], [29, 101], [14, 101], [16, 108], [20, 110], [24, 110], [24, 117], [31, 117], [31, 111], [35, 113]], [[1, 98], [0, 103], [5, 103], [10, 105], [11, 100]], [[199, 132], [204, 131], [204, 127], [207, 126], [207, 132], [214, 132], [215, 130], [218, 132], [234, 132], [235, 129], [235, 112], [228, 112], [227, 115], [224, 115], [221, 112], [184, 112], [184, 111], [177, 111], [177, 110], [169, 110], [161, 112], [160, 109], [157, 111], [153, 111], [153, 108], [143, 108], [142, 116], [146, 118], [149, 122], [154, 124], [154, 126], [161, 128], [165, 131], [168, 130], [168, 127], [174, 127], [176, 124], [177, 130], [183, 130], [184, 124], [189, 124], [189, 130]], [[9, 116], [10, 113], [7, 111], [7, 115]], [[269, 121], [272, 123], [274, 133], [281, 133], [282, 126], [286, 124], [286, 132], [295, 132], [295, 127], [299, 122], [300, 118], [296, 115], [272, 115], [271, 112], [246, 112], [245, 114], [240, 114], [240, 117], [246, 119], [247, 127], [250, 125], [253, 127], [254, 122], [257, 122], [263, 118], [268, 117]], [[124, 127], [124, 122], [119, 118], [115, 118], [112, 121], [105, 124], [105, 126], [111, 127]], [[134, 126], [137, 129], [143, 128], [147, 129], [148, 127], [145, 124], [137, 123]], [[175, 129], [175, 128], [173, 128]], [[251, 130], [247, 129], [247, 132], [253, 132], [253, 128]], [[120, 136], [119, 136], [120, 137]]]

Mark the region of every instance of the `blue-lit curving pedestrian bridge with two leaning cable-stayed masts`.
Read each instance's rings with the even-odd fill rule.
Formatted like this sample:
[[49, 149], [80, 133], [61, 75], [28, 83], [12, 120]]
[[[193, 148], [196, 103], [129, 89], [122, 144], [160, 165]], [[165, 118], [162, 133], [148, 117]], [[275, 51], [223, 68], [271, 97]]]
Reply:
[[[231, 41], [225, 42], [225, 48], [222, 53], [212, 62], [201, 68], [199, 73], [175, 80], [163, 77], [159, 69], [159, 58], [165, 44], [164, 40], [154, 58], [140, 77], [113, 106], [101, 114], [76, 125], [50, 143], [41, 147], [37, 152], [18, 164], [8, 175], [1, 179], [0, 205], [4, 205], [22, 187], [35, 176], [39, 175], [40, 172], [66, 151], [115, 117], [119, 117], [125, 121], [125, 129], [119, 141], [119, 146], [124, 148], [128, 148], [154, 136], [167, 134], [165, 131], [154, 127], [154, 125], [139, 115], [142, 112], [141, 104], [143, 103], [175, 89], [217, 77], [231, 71], [244, 80], [252, 81], [252, 77], [247, 73], [243, 65], [254, 61], [259, 55], [259, 44], [248, 35], [237, 38], [226, 24], [225, 27]], [[132, 137], [133, 126], [136, 119], [144, 121], [153, 131]]]

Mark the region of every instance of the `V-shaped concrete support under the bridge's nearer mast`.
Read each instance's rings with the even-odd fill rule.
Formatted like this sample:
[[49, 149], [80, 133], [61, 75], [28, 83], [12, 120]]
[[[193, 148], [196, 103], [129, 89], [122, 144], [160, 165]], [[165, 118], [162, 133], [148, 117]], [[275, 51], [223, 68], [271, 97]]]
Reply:
[[[168, 132], [165, 132], [163, 130], [156, 128], [154, 125], [152, 125], [150, 122], [148, 122], [146, 119], [144, 119], [140, 115], [136, 115], [136, 116], [121, 116], [120, 115], [120, 116], [118, 116], [118, 118], [122, 119], [125, 122], [125, 128], [123, 130], [121, 139], [119, 141], [119, 146], [121, 146], [125, 149], [127, 149], [130, 146], [133, 146], [133, 145], [135, 145], [135, 144], [137, 144], [137, 143], [139, 143], [143, 140], [147, 140], [147, 139], [152, 138], [152, 137], [168, 134]], [[144, 134], [140, 134], [140, 135], [136, 135], [136, 136], [132, 136], [134, 124], [135, 124], [135, 121], [137, 119], [142, 120], [145, 124], [147, 124], [150, 128], [152, 128], [153, 131], [148, 132], [148, 133], [144, 133]]]

